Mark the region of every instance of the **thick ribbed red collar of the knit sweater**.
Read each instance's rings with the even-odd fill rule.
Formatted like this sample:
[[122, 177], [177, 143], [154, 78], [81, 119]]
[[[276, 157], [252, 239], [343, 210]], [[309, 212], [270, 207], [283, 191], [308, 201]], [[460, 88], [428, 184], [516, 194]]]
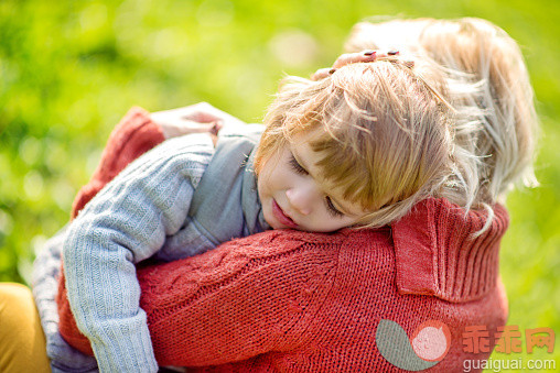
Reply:
[[478, 299], [498, 279], [499, 242], [509, 218], [494, 206], [491, 227], [478, 237], [487, 213], [445, 199], [419, 202], [391, 226], [397, 287], [401, 294], [432, 295], [461, 303]]

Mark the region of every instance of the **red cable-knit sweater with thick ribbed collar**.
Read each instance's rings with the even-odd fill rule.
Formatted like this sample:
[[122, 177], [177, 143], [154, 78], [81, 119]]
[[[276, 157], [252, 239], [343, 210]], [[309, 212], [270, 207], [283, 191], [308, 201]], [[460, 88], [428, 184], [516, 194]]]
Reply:
[[[127, 118], [117, 132], [148, 121], [139, 109]], [[104, 157], [134, 153], [112, 153], [112, 146], [134, 147], [137, 141], [119, 139], [126, 143], [109, 141]], [[89, 185], [118, 171], [101, 167]], [[492, 337], [506, 321], [498, 250], [508, 217], [500, 206], [495, 212], [491, 229], [471, 239], [485, 213], [465, 217], [444, 199], [429, 199], [390, 228], [267, 231], [140, 268], [141, 307], [158, 362], [213, 371], [401, 371], [377, 349], [381, 319], [396, 321], [409, 337], [426, 320], [449, 326], [451, 348], [431, 371], [459, 371], [465, 359], [487, 359], [489, 352], [465, 352], [462, 333], [485, 326]], [[72, 317], [64, 278], [58, 306], [63, 337], [91, 354]]]

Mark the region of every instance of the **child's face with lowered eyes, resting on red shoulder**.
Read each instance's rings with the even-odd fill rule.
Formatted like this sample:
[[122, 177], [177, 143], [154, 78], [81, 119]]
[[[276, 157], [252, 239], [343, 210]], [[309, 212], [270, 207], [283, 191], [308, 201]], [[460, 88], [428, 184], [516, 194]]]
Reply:
[[258, 193], [265, 219], [273, 229], [332, 232], [355, 224], [367, 212], [319, 177], [319, 156], [309, 146], [310, 136], [297, 136], [260, 169]]

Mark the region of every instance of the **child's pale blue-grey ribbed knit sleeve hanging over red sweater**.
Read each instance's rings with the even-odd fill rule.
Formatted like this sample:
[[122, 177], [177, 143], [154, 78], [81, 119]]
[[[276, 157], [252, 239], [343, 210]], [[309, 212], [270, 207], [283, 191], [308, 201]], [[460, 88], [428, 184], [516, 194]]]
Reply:
[[214, 147], [206, 134], [165, 141], [132, 162], [69, 224], [68, 301], [101, 372], [157, 372], [134, 264], [185, 222]]

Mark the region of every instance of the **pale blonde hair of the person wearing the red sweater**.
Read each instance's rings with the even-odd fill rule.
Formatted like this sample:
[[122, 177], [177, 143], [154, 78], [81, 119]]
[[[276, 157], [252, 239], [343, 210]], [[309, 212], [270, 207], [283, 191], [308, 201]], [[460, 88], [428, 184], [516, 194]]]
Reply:
[[473, 18], [360, 22], [345, 48], [408, 52], [445, 77], [445, 98], [457, 110], [459, 177], [440, 196], [466, 209], [484, 207], [492, 218], [491, 206], [504, 201], [514, 184], [537, 185], [532, 88], [519, 46], [504, 30]]

